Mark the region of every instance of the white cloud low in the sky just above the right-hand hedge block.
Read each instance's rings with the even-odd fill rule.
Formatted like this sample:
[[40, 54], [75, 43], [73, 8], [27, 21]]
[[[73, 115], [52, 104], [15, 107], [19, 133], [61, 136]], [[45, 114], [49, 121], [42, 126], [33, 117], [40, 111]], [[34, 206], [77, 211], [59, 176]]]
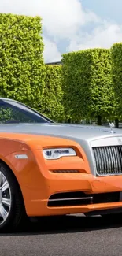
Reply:
[[83, 33], [71, 40], [67, 50], [84, 50], [88, 48], [109, 48], [113, 43], [122, 41], [122, 26], [104, 22], [91, 32]]

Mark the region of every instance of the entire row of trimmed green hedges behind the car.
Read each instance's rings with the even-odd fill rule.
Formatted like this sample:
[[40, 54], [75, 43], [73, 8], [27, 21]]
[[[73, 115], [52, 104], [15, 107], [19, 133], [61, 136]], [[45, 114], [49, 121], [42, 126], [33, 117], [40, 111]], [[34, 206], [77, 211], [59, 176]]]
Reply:
[[102, 117], [122, 117], [122, 43], [63, 54], [63, 65], [44, 65], [40, 17], [0, 13], [0, 35], [1, 97], [55, 121], [98, 117], [100, 124]]

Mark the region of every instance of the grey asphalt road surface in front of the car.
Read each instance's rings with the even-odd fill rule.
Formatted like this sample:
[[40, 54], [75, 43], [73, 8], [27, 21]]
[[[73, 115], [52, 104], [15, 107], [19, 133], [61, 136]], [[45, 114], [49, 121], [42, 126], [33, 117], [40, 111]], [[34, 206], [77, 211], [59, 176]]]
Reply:
[[121, 256], [121, 220], [48, 217], [20, 231], [0, 234], [0, 256]]

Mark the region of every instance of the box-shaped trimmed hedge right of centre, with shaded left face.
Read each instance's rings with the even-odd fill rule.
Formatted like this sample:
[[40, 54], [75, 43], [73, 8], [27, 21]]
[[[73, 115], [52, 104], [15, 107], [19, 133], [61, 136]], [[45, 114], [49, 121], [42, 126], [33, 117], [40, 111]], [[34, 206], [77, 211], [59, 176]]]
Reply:
[[110, 50], [80, 50], [63, 54], [66, 117], [72, 120], [113, 115], [114, 92]]

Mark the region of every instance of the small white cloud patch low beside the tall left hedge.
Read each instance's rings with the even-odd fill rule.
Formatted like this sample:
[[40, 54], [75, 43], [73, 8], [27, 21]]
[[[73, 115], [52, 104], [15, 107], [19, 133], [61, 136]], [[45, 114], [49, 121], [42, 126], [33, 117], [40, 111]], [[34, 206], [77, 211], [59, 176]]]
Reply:
[[44, 39], [44, 44], [45, 44], [45, 49], [44, 49], [44, 59], [45, 62], [50, 62], [50, 61], [60, 61], [61, 60], [61, 54], [59, 50], [57, 49], [56, 43], [50, 41], [50, 39]]

